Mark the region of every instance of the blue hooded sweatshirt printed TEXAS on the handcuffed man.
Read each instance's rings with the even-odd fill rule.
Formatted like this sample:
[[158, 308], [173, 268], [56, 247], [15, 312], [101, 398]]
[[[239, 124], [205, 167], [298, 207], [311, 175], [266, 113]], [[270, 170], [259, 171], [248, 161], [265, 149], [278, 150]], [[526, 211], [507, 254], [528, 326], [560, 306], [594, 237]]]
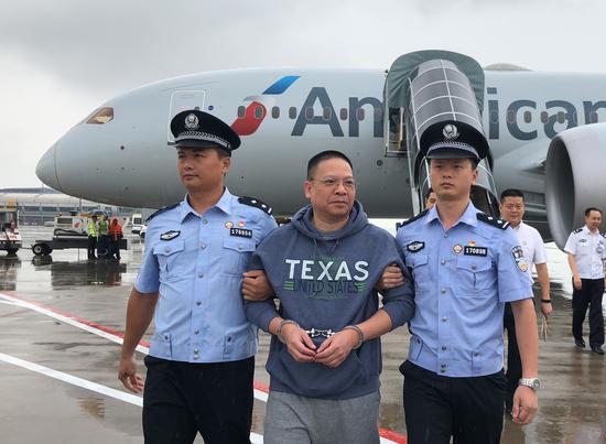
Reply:
[[[303, 329], [332, 329], [361, 323], [379, 308], [375, 284], [390, 263], [398, 263], [407, 283], [383, 294], [383, 310], [392, 328], [414, 312], [413, 290], [393, 237], [368, 223], [355, 202], [349, 221], [329, 234], [312, 224], [313, 209], [299, 210], [292, 223], [267, 236], [252, 256], [251, 268], [266, 271], [280, 300], [279, 314]], [[278, 313], [273, 300], [247, 302], [248, 318], [268, 331]], [[314, 337], [316, 346], [325, 337]], [[321, 399], [350, 399], [379, 389], [381, 345], [367, 340], [345, 361], [331, 368], [318, 362], [297, 362], [286, 346], [272, 337], [267, 362], [270, 389]]]

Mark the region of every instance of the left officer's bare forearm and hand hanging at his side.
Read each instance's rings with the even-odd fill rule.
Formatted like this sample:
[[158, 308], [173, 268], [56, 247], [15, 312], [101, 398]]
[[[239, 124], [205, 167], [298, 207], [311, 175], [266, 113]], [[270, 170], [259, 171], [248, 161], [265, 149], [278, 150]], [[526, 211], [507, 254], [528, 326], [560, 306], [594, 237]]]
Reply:
[[140, 293], [134, 288], [128, 300], [127, 328], [120, 355], [118, 379], [134, 393], [140, 393], [143, 388], [143, 379], [137, 375], [134, 349], [150, 326], [156, 302], [158, 292]]

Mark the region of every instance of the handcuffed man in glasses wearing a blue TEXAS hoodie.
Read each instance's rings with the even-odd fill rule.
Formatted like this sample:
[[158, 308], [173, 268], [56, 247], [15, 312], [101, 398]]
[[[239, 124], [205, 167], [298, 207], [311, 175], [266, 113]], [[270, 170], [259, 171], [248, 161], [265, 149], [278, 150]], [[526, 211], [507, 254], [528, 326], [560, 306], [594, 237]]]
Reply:
[[[379, 296], [375, 286], [391, 263], [394, 239], [369, 224], [356, 201], [350, 160], [323, 151], [307, 165], [311, 201], [291, 224], [272, 231], [253, 253], [280, 301], [244, 294], [246, 313], [272, 334], [270, 391], [263, 440], [284, 443], [379, 443], [379, 336], [410, 320], [410, 280]], [[255, 293], [255, 292], [252, 292]]]

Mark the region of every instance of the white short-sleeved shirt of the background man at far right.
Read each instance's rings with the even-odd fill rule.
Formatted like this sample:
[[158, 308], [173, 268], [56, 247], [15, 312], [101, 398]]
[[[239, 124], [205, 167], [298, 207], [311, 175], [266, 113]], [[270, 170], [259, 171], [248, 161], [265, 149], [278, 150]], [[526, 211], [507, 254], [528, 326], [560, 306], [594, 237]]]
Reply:
[[586, 225], [571, 232], [564, 246], [565, 252], [574, 255], [576, 271], [581, 279], [604, 278], [605, 249], [604, 237], [597, 230], [592, 234]]

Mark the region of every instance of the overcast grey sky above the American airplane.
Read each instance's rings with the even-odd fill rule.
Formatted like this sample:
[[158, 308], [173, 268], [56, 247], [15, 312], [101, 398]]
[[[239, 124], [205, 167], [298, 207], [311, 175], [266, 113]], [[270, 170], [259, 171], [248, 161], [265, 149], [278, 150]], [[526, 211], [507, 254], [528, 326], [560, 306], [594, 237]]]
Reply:
[[[606, 73], [606, 1], [0, 0], [0, 188], [101, 102], [203, 71], [387, 68], [442, 48], [480, 65]], [[606, 85], [605, 85], [606, 88]]]

